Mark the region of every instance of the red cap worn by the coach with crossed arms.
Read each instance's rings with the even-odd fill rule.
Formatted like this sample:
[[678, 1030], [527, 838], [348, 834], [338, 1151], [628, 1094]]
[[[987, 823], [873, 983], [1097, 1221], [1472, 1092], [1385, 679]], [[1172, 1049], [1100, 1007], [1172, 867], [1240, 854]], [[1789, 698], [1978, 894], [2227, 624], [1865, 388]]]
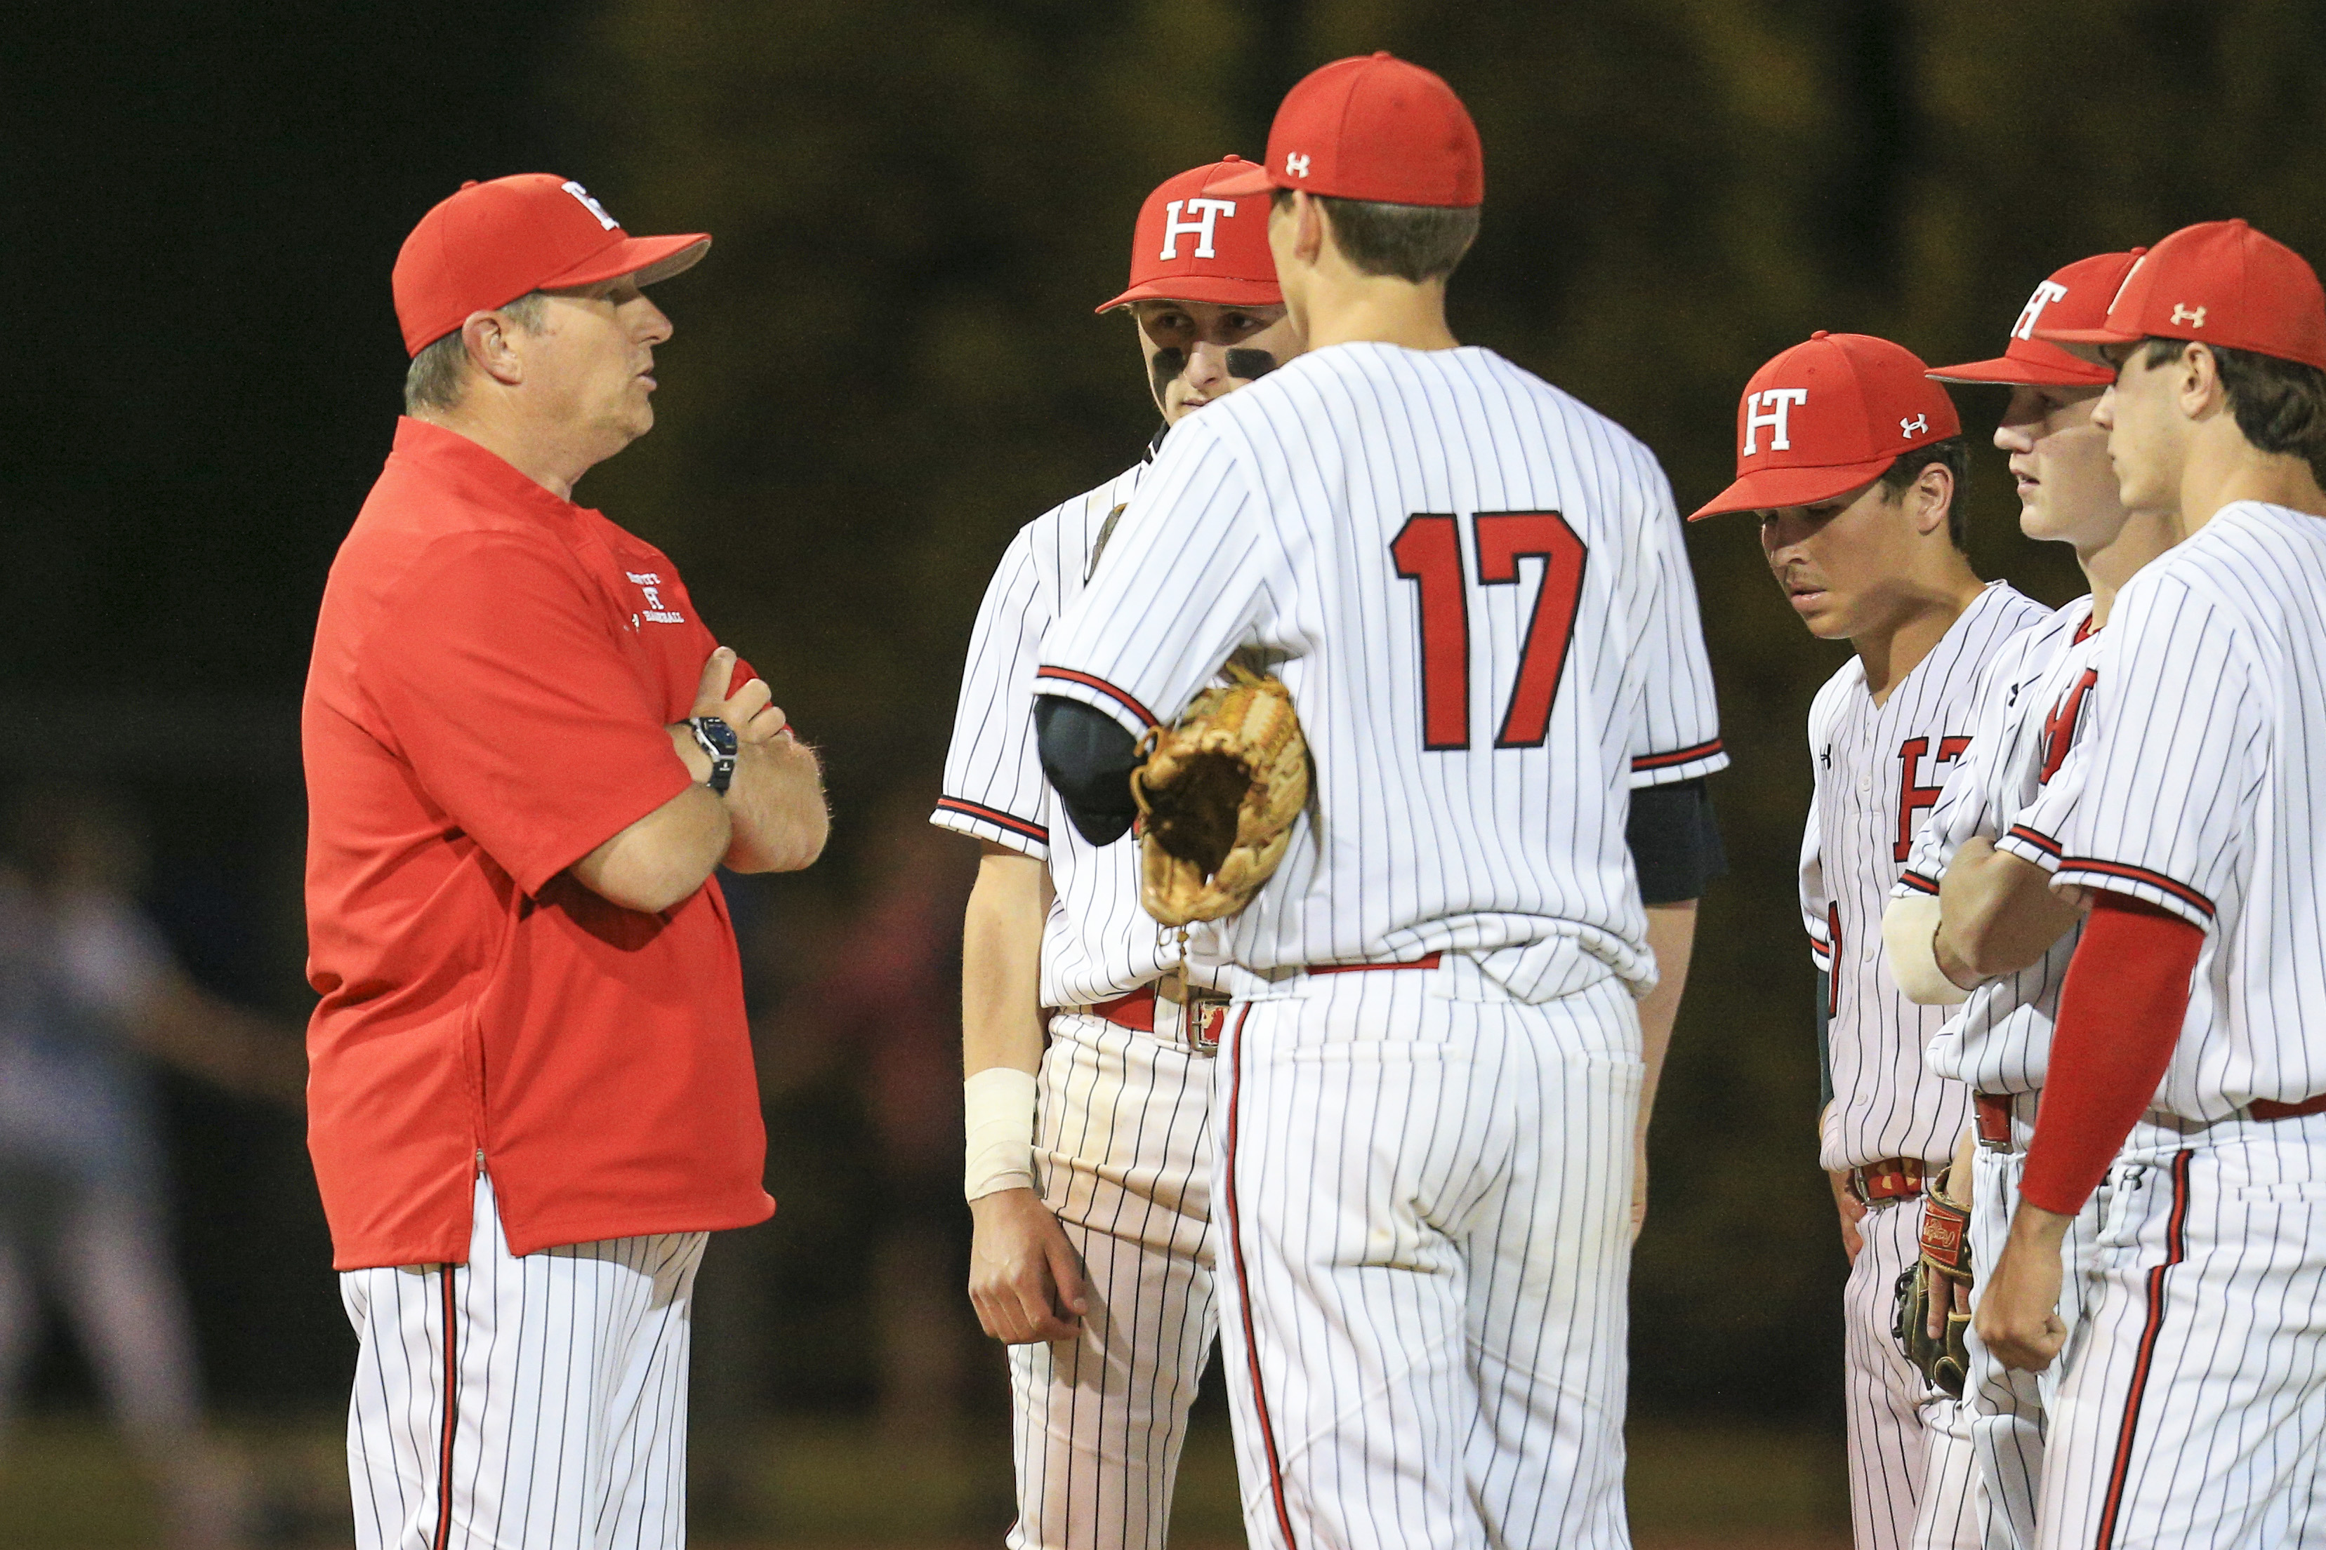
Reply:
[[588, 188], [556, 172], [470, 179], [421, 216], [395, 253], [395, 321], [405, 328], [405, 351], [419, 356], [472, 311], [616, 274], [651, 286], [691, 270], [709, 246], [702, 232], [633, 237]]

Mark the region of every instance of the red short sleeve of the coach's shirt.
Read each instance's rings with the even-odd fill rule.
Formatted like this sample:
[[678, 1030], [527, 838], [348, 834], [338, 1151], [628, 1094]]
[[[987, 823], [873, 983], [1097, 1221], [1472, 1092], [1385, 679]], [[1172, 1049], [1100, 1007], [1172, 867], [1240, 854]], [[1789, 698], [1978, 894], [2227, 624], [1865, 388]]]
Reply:
[[433, 544], [358, 676], [428, 797], [528, 895], [691, 783], [602, 597], [540, 541]]

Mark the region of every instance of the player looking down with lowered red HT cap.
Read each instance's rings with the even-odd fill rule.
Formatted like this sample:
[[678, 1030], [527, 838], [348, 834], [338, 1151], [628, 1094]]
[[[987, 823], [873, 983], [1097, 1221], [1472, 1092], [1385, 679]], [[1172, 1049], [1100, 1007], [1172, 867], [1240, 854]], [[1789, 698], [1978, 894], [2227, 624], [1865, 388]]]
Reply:
[[1821, 971], [1828, 1104], [1821, 1164], [1849, 1250], [1849, 1517], [1861, 1550], [1977, 1545], [1977, 1464], [1961, 1406], [1891, 1341], [1919, 1257], [1924, 1183], [1970, 1122], [1970, 1090], [1921, 1064], [1945, 1016], [1905, 999], [1882, 906], [1970, 744], [1989, 658], [2042, 609], [1979, 583], [1958, 507], [1968, 453], [1924, 363], [1868, 335], [1812, 335], [1738, 404], [1738, 481], [1696, 516], [1758, 511], [1796, 613], [1854, 655], [1810, 706], [1814, 797], [1800, 911]]

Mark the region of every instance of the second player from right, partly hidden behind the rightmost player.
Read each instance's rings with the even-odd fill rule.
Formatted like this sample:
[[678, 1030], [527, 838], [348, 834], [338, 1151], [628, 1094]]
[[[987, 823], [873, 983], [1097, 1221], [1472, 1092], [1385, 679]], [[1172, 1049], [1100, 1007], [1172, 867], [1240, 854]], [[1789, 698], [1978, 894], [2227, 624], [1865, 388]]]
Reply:
[[[2038, 323], [2098, 323], [2135, 258], [2100, 253], [2068, 265], [2028, 297], [2000, 358], [1931, 372], [1940, 381], [2010, 386], [1996, 449], [2010, 453], [2019, 530], [2070, 544], [2091, 581], [2089, 595], [2021, 632], [1989, 662], [1970, 748], [1947, 776], [1882, 918], [1891, 974], [1907, 997], [1961, 1006], [1931, 1041], [1926, 1062], [1968, 1083], [1977, 1108], [1977, 1143], [1968, 1162], [1956, 1153], [1947, 1190], [1968, 1201], [1968, 1234], [1924, 1234], [1926, 1260], [1956, 1271], [1938, 1280], [1924, 1276], [1926, 1285], [1947, 1292], [1933, 1297], [1933, 1339], [1945, 1339], [1949, 1311], [1961, 1318], [1970, 1306], [1963, 1276], [1991, 1273], [2003, 1250], [2042, 1095], [2059, 983], [2082, 925], [2082, 913], [2052, 892], [2049, 871], [2026, 860], [2033, 834], [2026, 823], [2075, 778], [2070, 755], [2086, 725], [2091, 660], [2117, 590], [2175, 537], [2170, 516], [2126, 511], [2117, 502], [2107, 432], [2091, 421], [2110, 372], [2033, 337]], [[2086, 1206], [2072, 1257], [2089, 1257], [2098, 1218], [2100, 1206]], [[1968, 1257], [1956, 1253], [1965, 1239]], [[2061, 1311], [2070, 1320], [2077, 1315], [2072, 1301]], [[1910, 1313], [1903, 1308], [1900, 1320]], [[1958, 1378], [1986, 1483], [1986, 1543], [2031, 1550], [2045, 1413], [2056, 1385], [2049, 1376], [2038, 1380], [2005, 1369], [1975, 1336], [1965, 1346]]]

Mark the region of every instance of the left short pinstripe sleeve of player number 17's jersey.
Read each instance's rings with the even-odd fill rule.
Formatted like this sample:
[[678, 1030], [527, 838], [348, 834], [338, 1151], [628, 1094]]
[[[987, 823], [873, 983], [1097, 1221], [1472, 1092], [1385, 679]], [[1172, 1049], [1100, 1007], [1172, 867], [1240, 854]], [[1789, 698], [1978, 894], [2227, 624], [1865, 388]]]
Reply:
[[1035, 693], [1082, 699], [1130, 732], [1168, 725], [1275, 613], [1284, 548], [1219, 432], [1182, 421], [1107, 553], [1042, 639]]

